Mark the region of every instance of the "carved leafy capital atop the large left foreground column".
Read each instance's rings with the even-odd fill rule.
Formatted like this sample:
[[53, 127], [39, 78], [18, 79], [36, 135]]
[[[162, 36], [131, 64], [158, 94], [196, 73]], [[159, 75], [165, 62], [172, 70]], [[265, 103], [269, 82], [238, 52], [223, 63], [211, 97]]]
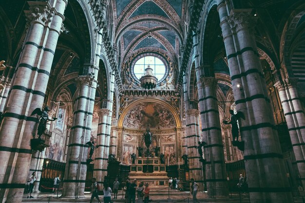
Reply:
[[52, 21], [55, 14], [55, 8], [51, 8], [47, 1], [28, 1], [30, 6], [28, 11], [24, 11], [29, 27], [31, 23], [40, 23], [45, 25]]

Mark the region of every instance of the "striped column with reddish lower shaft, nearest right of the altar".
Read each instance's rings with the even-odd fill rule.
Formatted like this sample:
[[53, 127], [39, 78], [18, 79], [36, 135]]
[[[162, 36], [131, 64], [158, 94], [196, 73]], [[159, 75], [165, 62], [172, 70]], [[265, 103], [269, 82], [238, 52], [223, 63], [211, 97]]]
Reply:
[[200, 138], [198, 119], [199, 111], [196, 109], [189, 109], [187, 115], [190, 122], [186, 125], [186, 128], [189, 129], [189, 134], [187, 134], [187, 143], [190, 179], [193, 178], [195, 182], [198, 183], [200, 190], [203, 190], [202, 164], [199, 162], [200, 157], [197, 149]]

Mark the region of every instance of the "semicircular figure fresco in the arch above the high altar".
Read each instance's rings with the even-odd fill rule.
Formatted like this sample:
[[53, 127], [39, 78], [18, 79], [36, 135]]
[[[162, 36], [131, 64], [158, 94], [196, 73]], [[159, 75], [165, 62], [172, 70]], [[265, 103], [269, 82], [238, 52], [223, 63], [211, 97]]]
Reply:
[[175, 120], [172, 113], [164, 106], [145, 102], [135, 106], [125, 116], [123, 127], [127, 128], [172, 128], [175, 127]]

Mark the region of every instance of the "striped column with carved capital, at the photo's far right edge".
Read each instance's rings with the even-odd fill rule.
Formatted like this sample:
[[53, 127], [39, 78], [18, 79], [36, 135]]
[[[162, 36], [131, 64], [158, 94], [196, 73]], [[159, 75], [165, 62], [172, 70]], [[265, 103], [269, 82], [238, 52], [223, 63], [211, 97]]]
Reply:
[[285, 85], [278, 81], [274, 86], [279, 91], [293, 152], [302, 185], [305, 185], [305, 116], [297, 89], [297, 80], [287, 78]]

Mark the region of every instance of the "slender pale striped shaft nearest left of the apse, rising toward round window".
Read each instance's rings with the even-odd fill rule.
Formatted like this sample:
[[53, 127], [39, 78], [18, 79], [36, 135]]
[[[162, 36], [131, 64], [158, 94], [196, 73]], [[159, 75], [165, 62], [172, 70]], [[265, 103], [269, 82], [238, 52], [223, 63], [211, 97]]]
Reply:
[[[109, 96], [109, 100], [108, 100], [108, 109], [109, 111], [109, 115], [107, 118], [107, 128], [106, 128], [106, 133], [107, 133], [107, 137], [105, 140], [105, 147], [104, 148], [104, 157], [108, 159], [109, 156], [109, 146], [110, 146], [110, 133], [111, 133], [111, 123], [112, 123], [112, 114], [113, 114], [113, 105], [114, 105], [114, 77], [115, 74], [114, 72], [111, 73], [111, 79], [110, 79], [110, 96]], [[107, 176], [107, 166], [108, 166], [108, 162], [105, 161], [103, 163], [103, 168], [106, 169], [104, 171], [102, 171], [102, 177]]]

